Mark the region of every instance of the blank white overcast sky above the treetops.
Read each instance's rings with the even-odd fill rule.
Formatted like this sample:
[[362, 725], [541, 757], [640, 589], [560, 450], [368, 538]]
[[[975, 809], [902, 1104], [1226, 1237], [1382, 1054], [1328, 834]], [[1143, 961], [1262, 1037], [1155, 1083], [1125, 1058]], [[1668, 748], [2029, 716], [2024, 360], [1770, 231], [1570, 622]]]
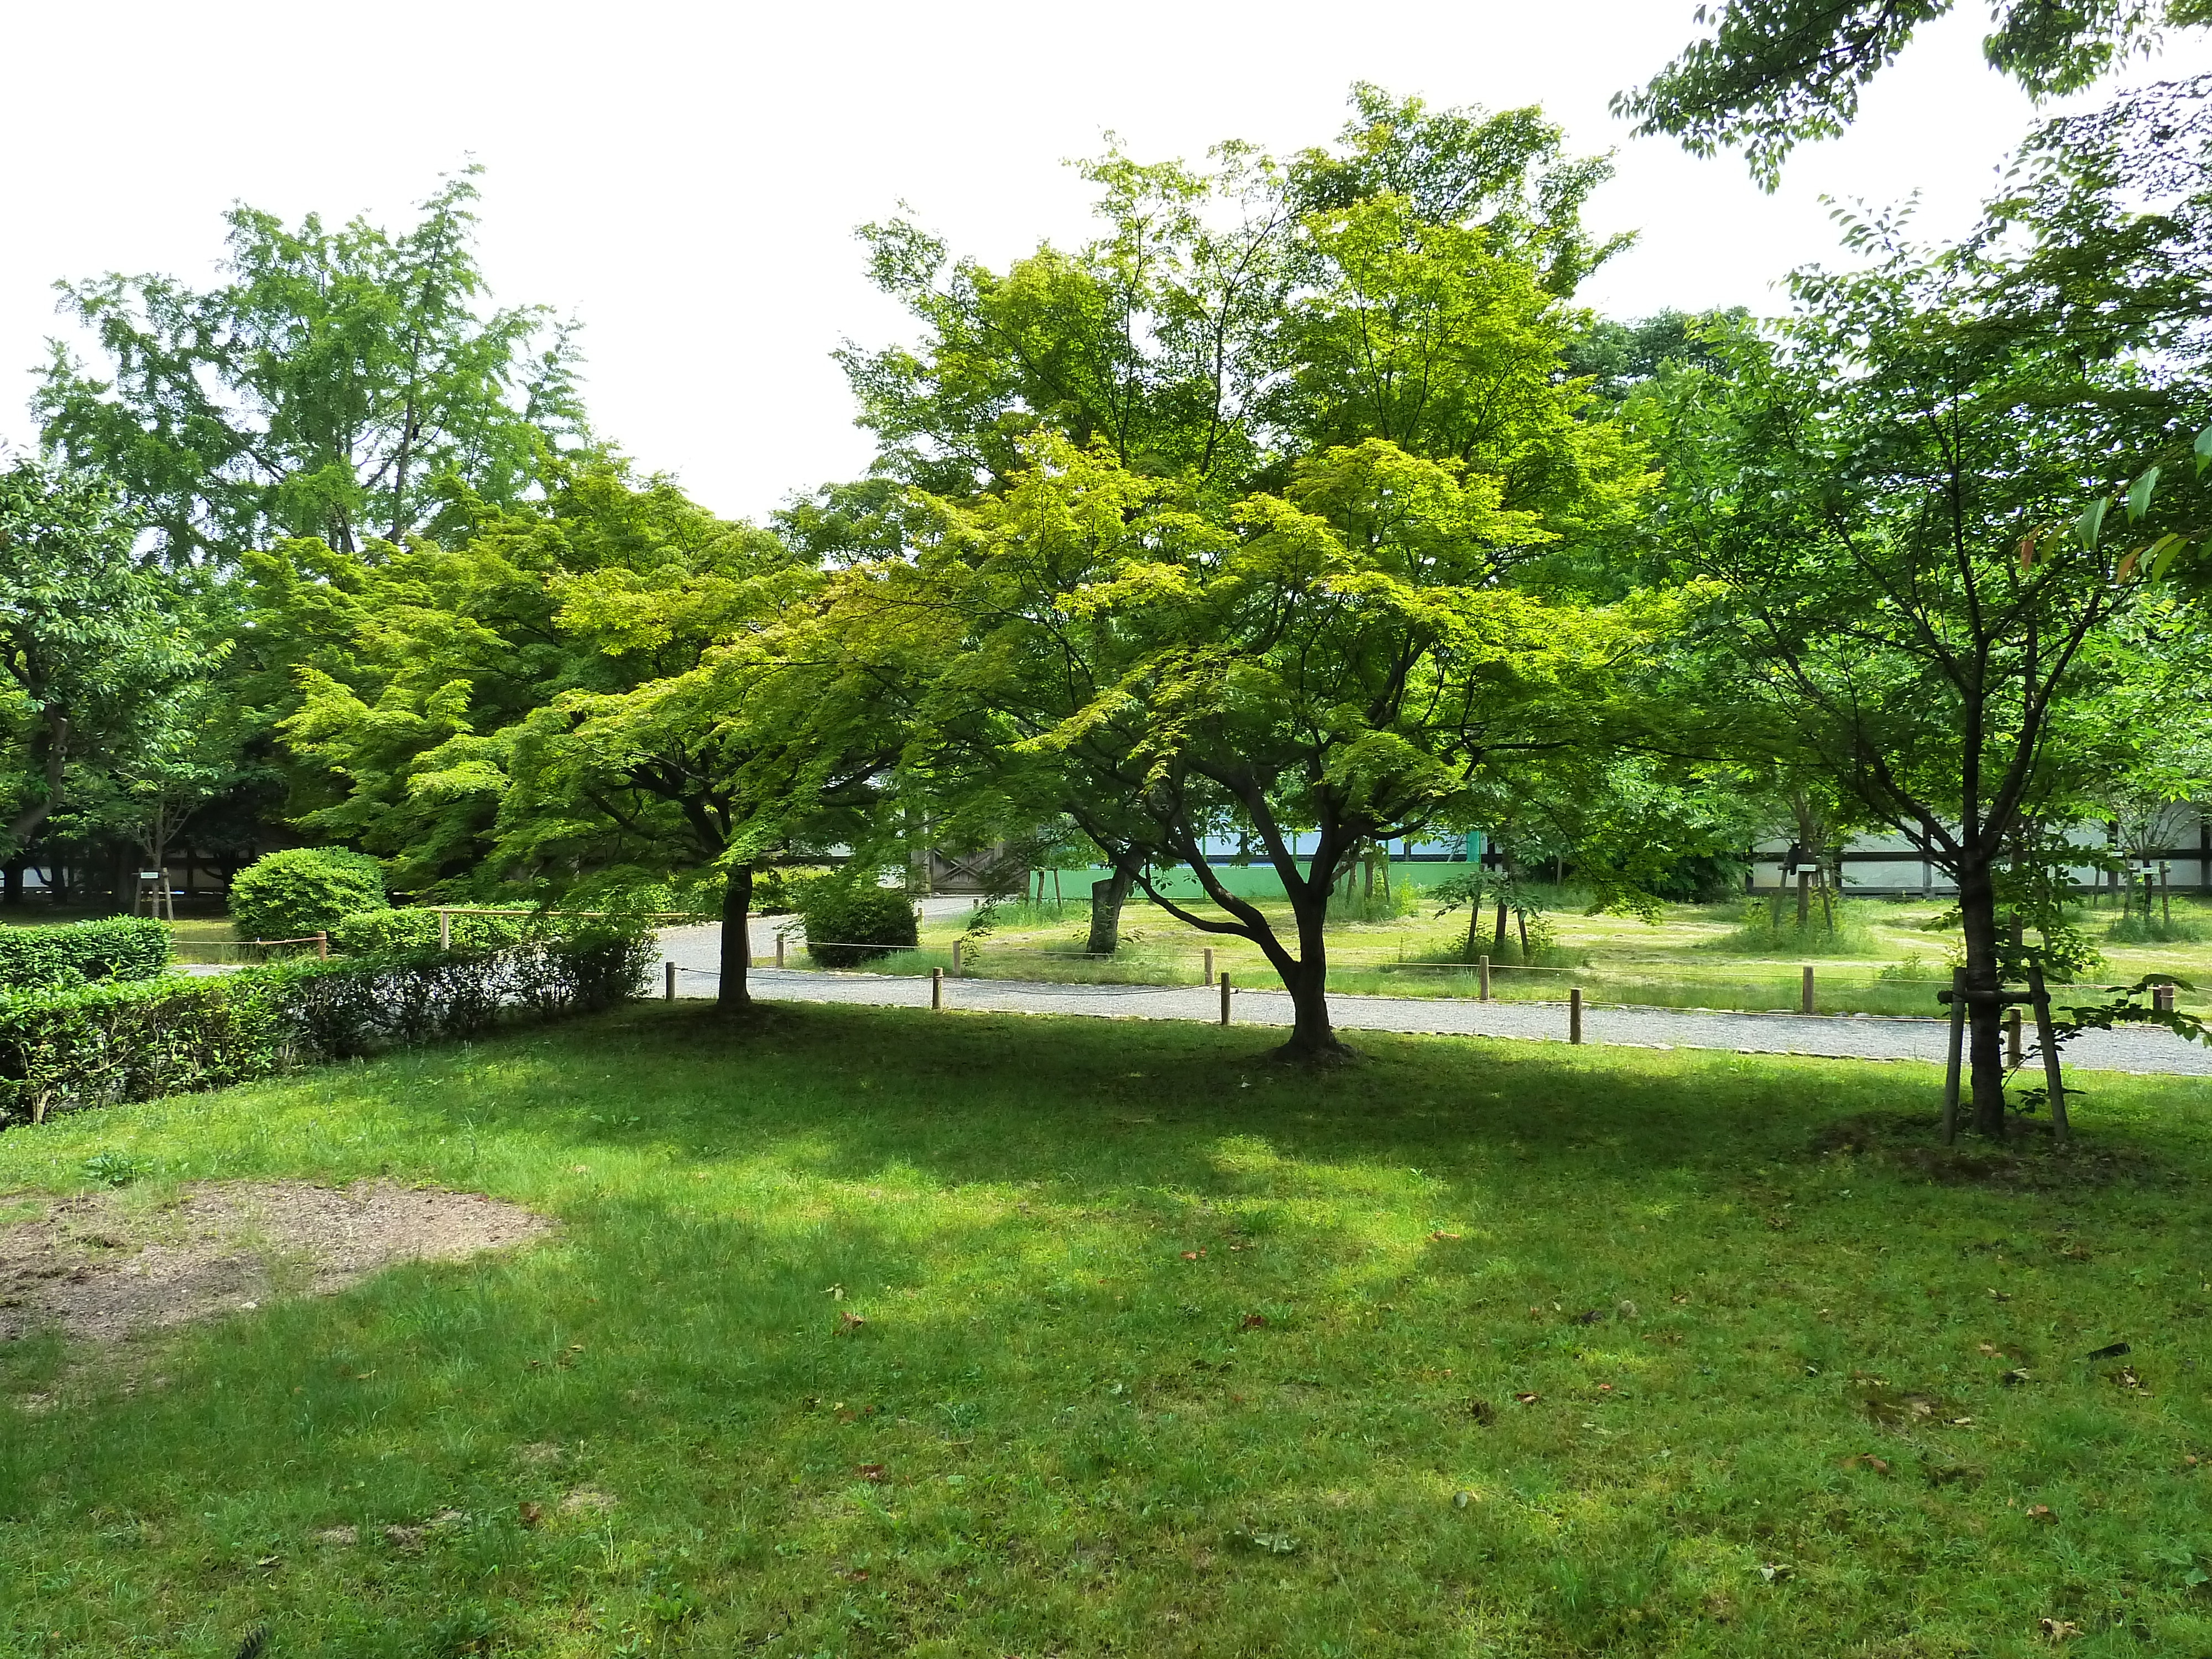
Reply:
[[[761, 515], [867, 465], [830, 352], [905, 319], [867, 288], [852, 228], [905, 199], [993, 263], [1079, 241], [1086, 188], [1062, 161], [1108, 128], [1135, 155], [1197, 159], [1223, 137], [1332, 137], [1354, 80], [1542, 104], [1575, 150], [1617, 150], [1590, 219], [1641, 234], [1582, 299], [1644, 316], [1778, 310], [1785, 270], [1834, 257], [1823, 195], [1918, 190], [1927, 232], [1960, 228], [2035, 119], [1982, 69], [1966, 0], [1876, 82], [1849, 137], [1761, 195], [1736, 157], [1628, 139], [1606, 113], [1692, 38], [1692, 9], [0, 0], [0, 440], [33, 436], [58, 276], [206, 283], [232, 201], [398, 226], [467, 155], [487, 166], [495, 296], [584, 323], [595, 425], [706, 504]], [[2185, 42], [2154, 69], [2208, 62]]]

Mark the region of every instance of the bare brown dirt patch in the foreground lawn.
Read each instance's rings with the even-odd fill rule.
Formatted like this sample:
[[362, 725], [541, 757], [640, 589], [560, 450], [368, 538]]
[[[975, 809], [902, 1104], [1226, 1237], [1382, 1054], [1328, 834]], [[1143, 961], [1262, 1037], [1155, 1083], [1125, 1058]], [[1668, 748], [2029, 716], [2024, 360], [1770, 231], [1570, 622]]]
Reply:
[[458, 1261], [553, 1230], [480, 1192], [361, 1181], [199, 1181], [150, 1199], [13, 1194], [0, 1214], [0, 1340], [40, 1327], [91, 1340], [327, 1296], [403, 1261]]

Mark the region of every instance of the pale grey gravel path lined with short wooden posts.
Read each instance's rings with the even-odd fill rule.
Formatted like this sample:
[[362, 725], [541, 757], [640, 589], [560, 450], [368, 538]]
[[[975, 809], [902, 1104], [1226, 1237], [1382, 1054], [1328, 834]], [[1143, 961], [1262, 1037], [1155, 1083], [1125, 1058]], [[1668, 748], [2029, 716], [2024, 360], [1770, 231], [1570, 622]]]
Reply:
[[[940, 900], [942, 902], [942, 900]], [[962, 900], [964, 902], [964, 900]], [[754, 918], [754, 958], [774, 956], [776, 922]], [[677, 995], [710, 998], [719, 967], [712, 927], [661, 931], [661, 953], [677, 964]], [[752, 969], [752, 993], [768, 1002], [867, 1002], [927, 1009], [929, 980], [898, 973]], [[1219, 1020], [1221, 993], [1194, 984], [1040, 984], [1031, 980], [947, 980], [945, 1004], [993, 1013], [1073, 1013], [1106, 1020]], [[1566, 1042], [1564, 1002], [1462, 1002], [1442, 998], [1332, 995], [1343, 1031], [1438, 1031], [1449, 1035]], [[1287, 1026], [1290, 995], [1237, 991], [1239, 1024]], [[1590, 1004], [1584, 1042], [1639, 1048], [1732, 1048], [1736, 1053], [1827, 1055], [1836, 1060], [1927, 1060], [1942, 1064], [1942, 1020], [1889, 1015], [1721, 1013], [1705, 1009], [1624, 1009]], [[2086, 1031], [2066, 1044], [2066, 1064], [2086, 1071], [2212, 1077], [2212, 1048], [2166, 1031]]]

